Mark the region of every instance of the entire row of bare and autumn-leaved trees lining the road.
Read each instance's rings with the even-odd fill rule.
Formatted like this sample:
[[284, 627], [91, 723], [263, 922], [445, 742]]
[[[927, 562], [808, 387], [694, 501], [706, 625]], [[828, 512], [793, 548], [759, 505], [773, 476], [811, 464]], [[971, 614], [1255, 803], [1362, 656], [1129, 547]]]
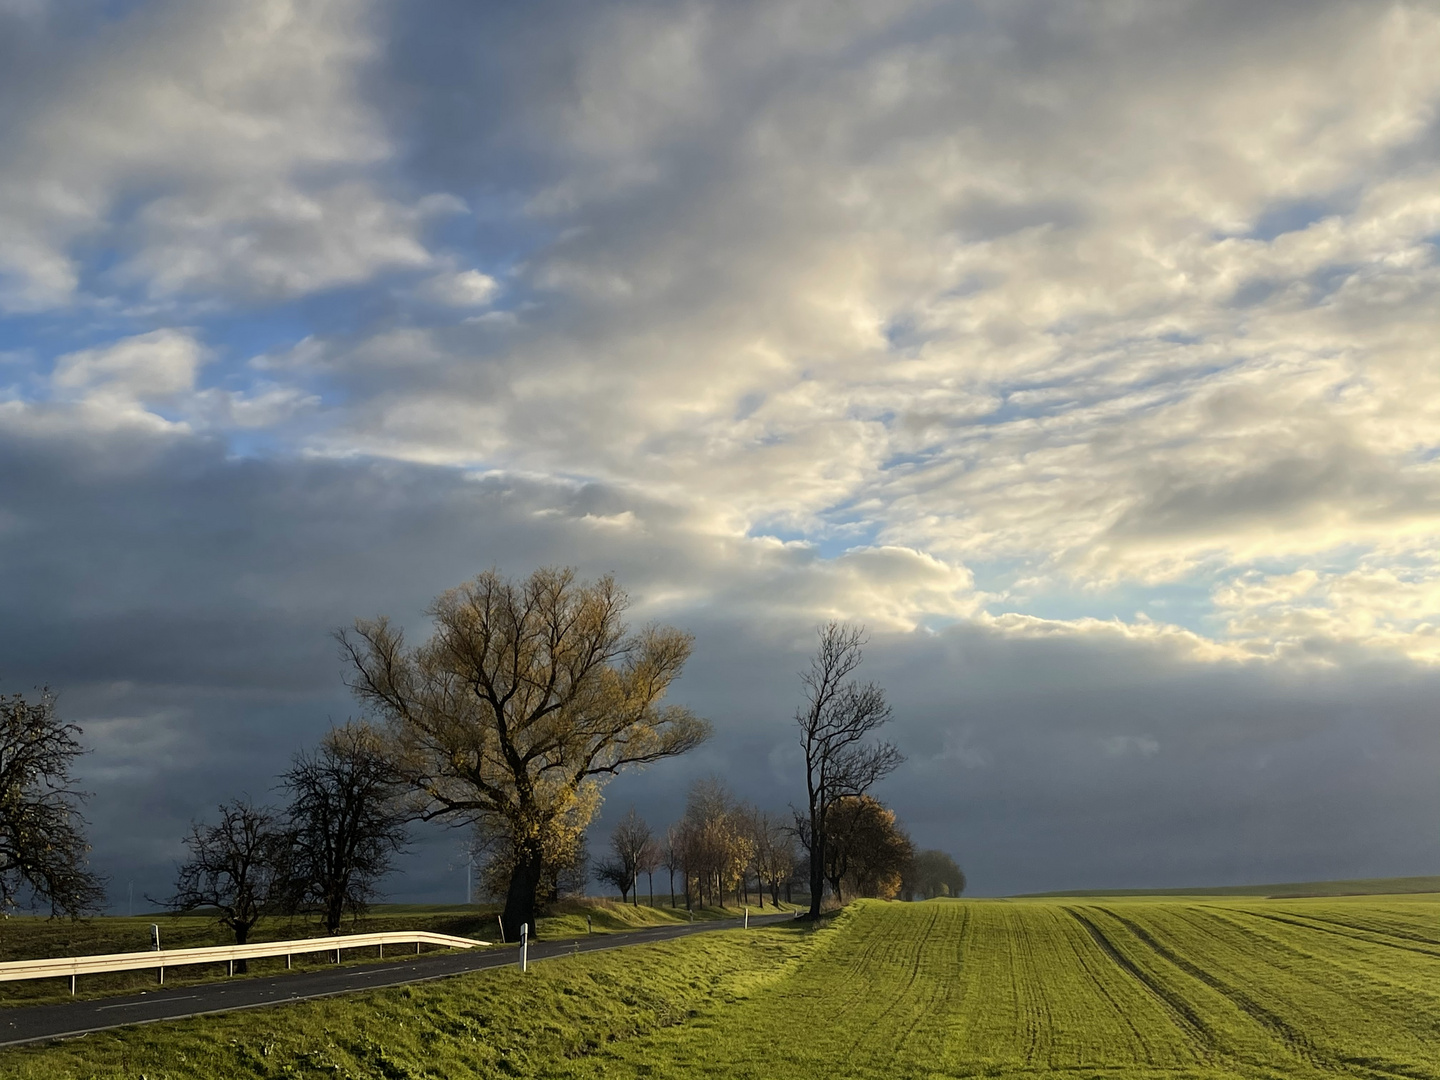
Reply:
[[[664, 703], [691, 638], [668, 626], [632, 634], [626, 606], [608, 576], [582, 583], [569, 569], [543, 569], [516, 582], [491, 570], [436, 598], [433, 634], [420, 645], [386, 618], [357, 621], [337, 641], [348, 684], [379, 724], [338, 729], [298, 756], [282, 780], [284, 811], [242, 801], [222, 806], [217, 824], [196, 825], [168, 903], [225, 910], [242, 939], [266, 910], [311, 910], [336, 929], [373, 894], [406, 822], [448, 821], [475, 828], [485, 880], [504, 896], [507, 936], [533, 926], [547, 896], [583, 881], [585, 834], [603, 785], [710, 732]], [[700, 785], [664, 837], [625, 824], [602, 876], [629, 894], [641, 873], [665, 865], [671, 880], [681, 876], [687, 901], [708, 903], [736, 888], [747, 896], [752, 881], [775, 899], [802, 867], [812, 914], [827, 884], [840, 896], [899, 888], [909, 841], [894, 840], [893, 815], [868, 792], [903, 759], [876, 737], [890, 720], [884, 693], [854, 677], [863, 645], [858, 628], [821, 628], [795, 716], [806, 801], [791, 821]], [[79, 795], [66, 772], [78, 729], [55, 720], [49, 696], [37, 707], [3, 704], [22, 727], [43, 714], [48, 742], [30, 756], [0, 749], [0, 900], [27, 884], [52, 910], [91, 910], [102, 883], [84, 870]], [[6, 779], [7, 769], [19, 779]], [[12, 798], [16, 791], [23, 795]], [[865, 845], [878, 854], [861, 858]]]

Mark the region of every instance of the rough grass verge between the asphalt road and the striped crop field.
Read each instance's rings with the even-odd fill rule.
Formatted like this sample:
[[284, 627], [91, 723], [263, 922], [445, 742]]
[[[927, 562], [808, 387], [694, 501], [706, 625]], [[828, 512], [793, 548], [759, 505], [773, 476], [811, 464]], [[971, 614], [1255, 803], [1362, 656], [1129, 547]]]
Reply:
[[549, 1076], [744, 999], [825, 932], [782, 926], [0, 1051], [13, 1080]]

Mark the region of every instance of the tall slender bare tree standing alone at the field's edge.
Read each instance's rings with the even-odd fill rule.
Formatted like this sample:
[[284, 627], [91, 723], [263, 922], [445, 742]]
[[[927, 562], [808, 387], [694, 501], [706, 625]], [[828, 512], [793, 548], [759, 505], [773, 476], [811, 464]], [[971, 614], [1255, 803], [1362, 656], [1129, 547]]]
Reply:
[[904, 760], [893, 743], [868, 742], [891, 713], [880, 687], [851, 678], [864, 658], [864, 628], [828, 622], [818, 632], [819, 647], [801, 672], [805, 703], [795, 713], [805, 750], [808, 802], [799, 837], [811, 857], [811, 919], [819, 916], [825, 891], [825, 819], [831, 806], [864, 795]]

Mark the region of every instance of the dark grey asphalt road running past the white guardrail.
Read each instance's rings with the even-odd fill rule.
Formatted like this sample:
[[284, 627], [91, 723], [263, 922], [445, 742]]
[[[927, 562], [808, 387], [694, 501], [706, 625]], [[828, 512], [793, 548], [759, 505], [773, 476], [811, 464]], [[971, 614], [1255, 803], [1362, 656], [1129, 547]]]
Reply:
[[[750, 924], [765, 924], [793, 919], [792, 914], [750, 916]], [[563, 940], [533, 942], [530, 963], [553, 956], [572, 956], [577, 952], [600, 952], [622, 949], [629, 945], [668, 942], [691, 933], [707, 930], [733, 930], [739, 919], [680, 923], [674, 926], [651, 926], [625, 933], [593, 935]], [[73, 1038], [92, 1031], [128, 1027], [131, 1024], [154, 1024], [160, 1020], [184, 1020], [210, 1012], [233, 1012], [235, 1009], [284, 1005], [289, 1001], [328, 998], [336, 994], [402, 986], [410, 982], [446, 979], [452, 975], [504, 968], [518, 960], [516, 946], [484, 949], [480, 952], [451, 952], [432, 956], [418, 956], [413, 960], [374, 963], [364, 966], [331, 968], [320, 971], [276, 975], [265, 979], [233, 979], [210, 982], [200, 986], [179, 986], [173, 991], [154, 989], [124, 998], [96, 998], [94, 1001], [68, 1001], [62, 1005], [30, 1005], [26, 1008], [0, 1008], [0, 1045], [20, 1043], [43, 1043], [52, 1038]]]

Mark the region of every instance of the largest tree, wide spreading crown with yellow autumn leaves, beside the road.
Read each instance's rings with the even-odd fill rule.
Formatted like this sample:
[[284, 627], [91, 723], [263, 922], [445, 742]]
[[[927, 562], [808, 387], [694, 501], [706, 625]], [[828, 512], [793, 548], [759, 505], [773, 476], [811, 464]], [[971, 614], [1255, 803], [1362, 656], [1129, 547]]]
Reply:
[[490, 570], [435, 600], [418, 648], [384, 618], [338, 635], [351, 690], [389, 721], [418, 816], [503, 838], [507, 936], [534, 926], [547, 868], [577, 850], [609, 778], [708, 736], [690, 710], [661, 704], [693, 639], [667, 626], [629, 635], [626, 605], [608, 576]]

